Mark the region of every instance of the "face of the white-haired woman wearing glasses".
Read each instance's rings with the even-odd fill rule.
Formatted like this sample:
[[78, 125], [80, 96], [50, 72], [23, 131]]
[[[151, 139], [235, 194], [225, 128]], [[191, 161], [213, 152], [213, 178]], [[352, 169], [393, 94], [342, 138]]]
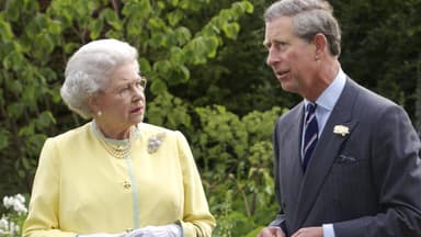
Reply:
[[140, 123], [146, 108], [145, 86], [145, 79], [133, 64], [117, 67], [105, 89], [93, 99], [93, 111], [102, 113], [95, 115], [100, 128], [118, 136], [116, 134], [124, 135], [130, 126]]

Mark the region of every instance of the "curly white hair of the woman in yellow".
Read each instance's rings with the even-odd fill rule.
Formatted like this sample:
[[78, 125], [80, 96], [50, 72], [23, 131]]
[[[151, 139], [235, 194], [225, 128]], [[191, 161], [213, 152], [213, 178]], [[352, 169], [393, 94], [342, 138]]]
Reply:
[[134, 64], [139, 71], [137, 49], [117, 40], [98, 40], [80, 47], [68, 60], [60, 94], [70, 110], [84, 119], [93, 116], [88, 100], [104, 89], [121, 65]]

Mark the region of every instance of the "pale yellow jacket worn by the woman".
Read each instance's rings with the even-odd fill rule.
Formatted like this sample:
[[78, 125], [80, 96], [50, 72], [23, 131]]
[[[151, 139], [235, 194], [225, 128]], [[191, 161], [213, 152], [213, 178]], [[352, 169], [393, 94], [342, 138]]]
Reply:
[[[180, 132], [141, 123], [126, 159], [110, 156], [92, 122], [48, 138], [39, 157], [24, 237], [122, 233], [179, 223], [183, 236], [215, 227], [201, 178]], [[150, 139], [164, 134], [157, 150]]]

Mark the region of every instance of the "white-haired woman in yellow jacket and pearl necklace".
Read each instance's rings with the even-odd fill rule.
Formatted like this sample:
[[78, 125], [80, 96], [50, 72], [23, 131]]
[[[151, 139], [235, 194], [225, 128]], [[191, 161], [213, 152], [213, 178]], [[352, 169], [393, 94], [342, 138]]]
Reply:
[[127, 43], [94, 41], [70, 58], [61, 97], [93, 120], [45, 142], [24, 237], [212, 235], [185, 137], [143, 123], [145, 86]]

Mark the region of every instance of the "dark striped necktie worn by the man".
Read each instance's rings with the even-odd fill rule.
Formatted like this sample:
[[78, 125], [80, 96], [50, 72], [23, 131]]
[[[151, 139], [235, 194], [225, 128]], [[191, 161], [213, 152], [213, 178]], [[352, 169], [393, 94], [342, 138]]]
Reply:
[[316, 106], [317, 104], [314, 103], [308, 103], [307, 109], [306, 109], [306, 117], [304, 122], [304, 146], [303, 146], [303, 169], [306, 171], [308, 161], [310, 160], [312, 150], [316, 147], [316, 143], [318, 139], [318, 124], [317, 124], [317, 119], [316, 119]]

